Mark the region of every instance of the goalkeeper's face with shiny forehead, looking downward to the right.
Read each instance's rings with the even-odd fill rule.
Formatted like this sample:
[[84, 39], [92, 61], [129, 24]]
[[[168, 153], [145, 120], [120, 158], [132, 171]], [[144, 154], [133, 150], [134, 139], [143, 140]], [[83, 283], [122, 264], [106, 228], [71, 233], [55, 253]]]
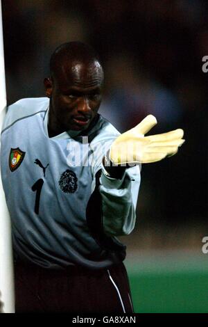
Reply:
[[[103, 70], [98, 63], [65, 63], [53, 77], [50, 113], [62, 131], [83, 131], [96, 117], [101, 104]], [[46, 84], [46, 83], [45, 83]]]

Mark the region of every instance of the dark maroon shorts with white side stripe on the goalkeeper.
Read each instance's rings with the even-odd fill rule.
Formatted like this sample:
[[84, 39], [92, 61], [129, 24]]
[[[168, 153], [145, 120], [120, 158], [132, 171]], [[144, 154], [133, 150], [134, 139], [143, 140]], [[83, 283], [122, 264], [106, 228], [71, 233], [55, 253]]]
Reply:
[[15, 312], [132, 313], [125, 266], [59, 271], [15, 263]]

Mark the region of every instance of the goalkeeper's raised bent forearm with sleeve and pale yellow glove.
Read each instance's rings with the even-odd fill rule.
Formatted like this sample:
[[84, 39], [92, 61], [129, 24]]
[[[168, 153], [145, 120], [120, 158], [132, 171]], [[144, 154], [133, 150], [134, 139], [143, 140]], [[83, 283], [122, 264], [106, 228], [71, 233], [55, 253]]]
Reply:
[[184, 143], [182, 129], [144, 136], [155, 124], [156, 118], [148, 115], [139, 125], [115, 138], [100, 165], [98, 189], [101, 194], [103, 230], [108, 235], [130, 234], [135, 226], [140, 184], [139, 163], [170, 157]]

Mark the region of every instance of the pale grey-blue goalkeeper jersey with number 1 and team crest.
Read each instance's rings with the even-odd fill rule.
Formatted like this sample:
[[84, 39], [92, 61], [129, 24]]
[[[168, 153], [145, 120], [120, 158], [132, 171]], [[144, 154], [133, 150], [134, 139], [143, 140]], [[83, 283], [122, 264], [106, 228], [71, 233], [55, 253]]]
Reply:
[[125, 246], [116, 237], [135, 225], [139, 167], [122, 180], [107, 177], [103, 155], [119, 132], [101, 115], [88, 135], [49, 138], [48, 113], [48, 98], [21, 99], [8, 107], [1, 132], [15, 257], [51, 269], [121, 262]]

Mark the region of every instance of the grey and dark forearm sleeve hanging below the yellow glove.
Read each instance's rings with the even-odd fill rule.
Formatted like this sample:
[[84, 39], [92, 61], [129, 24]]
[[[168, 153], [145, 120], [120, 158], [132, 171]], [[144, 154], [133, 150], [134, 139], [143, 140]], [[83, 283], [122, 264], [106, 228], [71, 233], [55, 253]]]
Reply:
[[135, 209], [140, 185], [139, 166], [126, 169], [122, 180], [107, 177], [102, 169], [100, 183], [105, 234], [109, 236], [130, 234], [136, 221]]

